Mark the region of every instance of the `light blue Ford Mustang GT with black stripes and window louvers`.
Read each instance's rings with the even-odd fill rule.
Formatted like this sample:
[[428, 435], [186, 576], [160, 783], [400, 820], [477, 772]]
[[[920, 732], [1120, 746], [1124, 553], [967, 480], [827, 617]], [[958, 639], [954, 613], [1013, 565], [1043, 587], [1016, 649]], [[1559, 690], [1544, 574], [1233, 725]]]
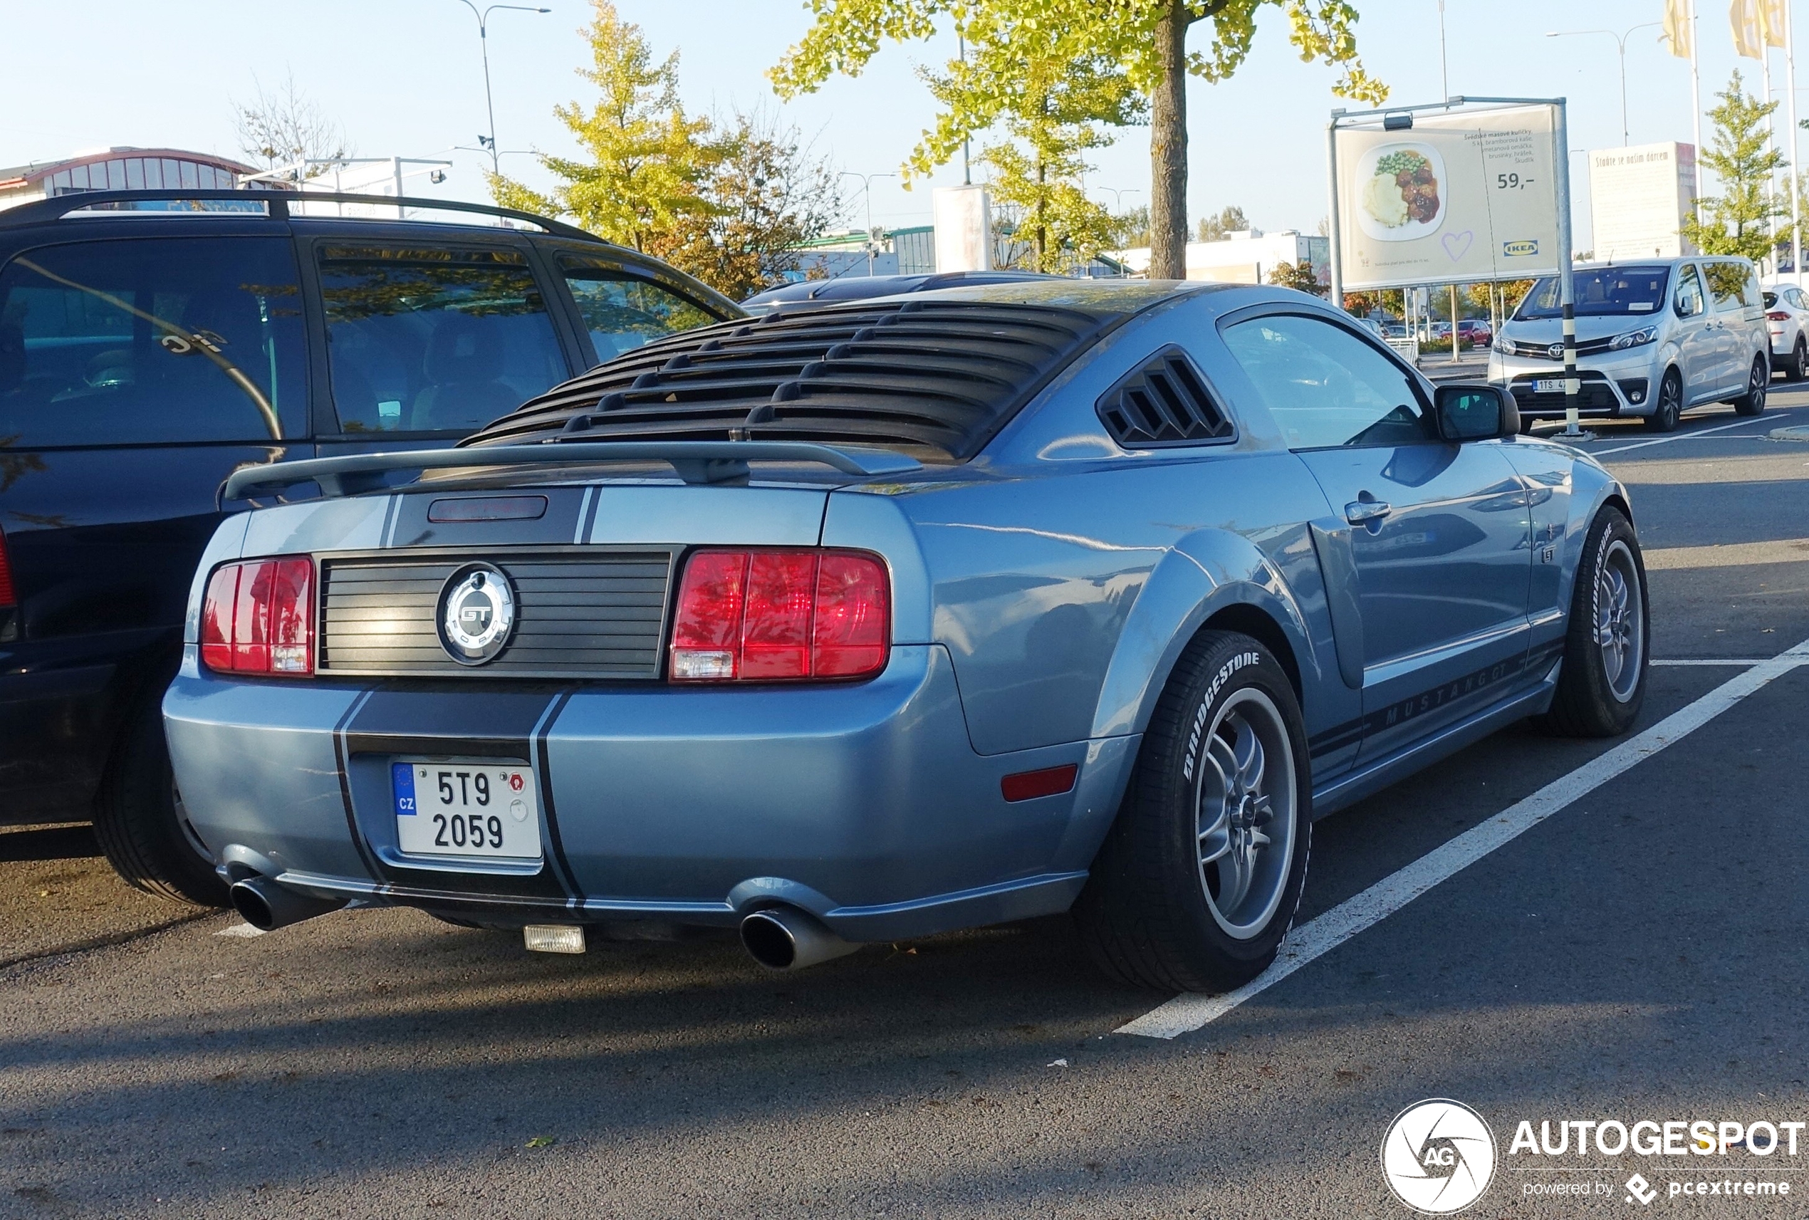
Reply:
[[237, 472], [270, 507], [195, 576], [183, 805], [262, 927], [740, 927], [798, 967], [1073, 910], [1120, 979], [1230, 986], [1313, 816], [1637, 715], [1626, 491], [1516, 433], [1272, 288], [675, 335], [458, 449]]

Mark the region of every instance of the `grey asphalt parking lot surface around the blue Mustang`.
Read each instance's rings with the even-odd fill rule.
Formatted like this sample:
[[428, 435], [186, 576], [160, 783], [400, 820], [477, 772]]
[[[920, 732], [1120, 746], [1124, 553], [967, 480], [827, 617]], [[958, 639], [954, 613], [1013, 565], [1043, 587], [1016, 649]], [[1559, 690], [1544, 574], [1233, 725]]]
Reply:
[[[1623, 1202], [1693, 1157], [1543, 1158], [1614, 1187], [1579, 1200], [1505, 1155], [1520, 1119], [1809, 1119], [1809, 650], [1751, 664], [1809, 641], [1809, 443], [1767, 438], [1800, 424], [1780, 386], [1760, 420], [1599, 427], [1670, 662], [1643, 744], [1514, 728], [1326, 818], [1295, 939], [1348, 939], [1170, 1037], [1114, 1032], [1169, 997], [1102, 983], [1066, 920], [794, 976], [396, 910], [235, 936], [81, 827], [0, 831], [0, 1216], [1400, 1216], [1377, 1149], [1425, 1097], [1503, 1153], [1467, 1215], [1802, 1215]], [[1402, 901], [1465, 833], [1505, 842]]]

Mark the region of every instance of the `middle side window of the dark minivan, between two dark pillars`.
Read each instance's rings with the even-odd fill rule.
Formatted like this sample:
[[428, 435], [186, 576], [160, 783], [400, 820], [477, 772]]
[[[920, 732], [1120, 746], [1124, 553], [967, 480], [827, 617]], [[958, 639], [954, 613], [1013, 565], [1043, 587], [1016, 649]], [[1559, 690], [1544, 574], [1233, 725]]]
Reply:
[[346, 433], [472, 433], [566, 380], [516, 250], [320, 246], [333, 407]]

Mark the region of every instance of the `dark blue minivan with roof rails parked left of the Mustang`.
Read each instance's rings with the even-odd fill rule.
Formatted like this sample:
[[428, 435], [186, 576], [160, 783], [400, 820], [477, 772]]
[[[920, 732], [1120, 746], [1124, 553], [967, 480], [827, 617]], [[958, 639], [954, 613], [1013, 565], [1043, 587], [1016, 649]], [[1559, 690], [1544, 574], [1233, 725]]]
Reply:
[[226, 476], [445, 445], [601, 358], [742, 317], [555, 221], [438, 201], [463, 223], [317, 219], [295, 199], [0, 212], [0, 822], [92, 816], [121, 876], [188, 901], [226, 889], [157, 701], [195, 563], [246, 507]]

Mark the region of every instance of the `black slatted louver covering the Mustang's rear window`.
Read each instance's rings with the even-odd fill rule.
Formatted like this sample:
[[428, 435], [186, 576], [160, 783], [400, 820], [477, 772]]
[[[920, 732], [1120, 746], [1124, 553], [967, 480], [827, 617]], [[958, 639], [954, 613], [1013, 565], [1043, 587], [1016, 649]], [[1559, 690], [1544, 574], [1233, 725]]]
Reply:
[[1116, 319], [993, 300], [776, 311], [637, 348], [465, 443], [812, 440], [966, 460]]

